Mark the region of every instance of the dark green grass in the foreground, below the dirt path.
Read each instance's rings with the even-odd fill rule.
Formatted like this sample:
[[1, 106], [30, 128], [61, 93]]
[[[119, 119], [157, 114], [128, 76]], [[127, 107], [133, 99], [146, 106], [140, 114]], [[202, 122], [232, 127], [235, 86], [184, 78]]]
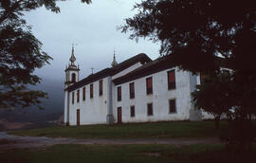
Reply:
[[[169, 145], [55, 145], [39, 150], [12, 150], [0, 153], [4, 163], [222, 163], [255, 161], [255, 148], [246, 155], [230, 154], [224, 145], [190, 145], [174, 147]], [[235, 155], [235, 157], [234, 157]]]

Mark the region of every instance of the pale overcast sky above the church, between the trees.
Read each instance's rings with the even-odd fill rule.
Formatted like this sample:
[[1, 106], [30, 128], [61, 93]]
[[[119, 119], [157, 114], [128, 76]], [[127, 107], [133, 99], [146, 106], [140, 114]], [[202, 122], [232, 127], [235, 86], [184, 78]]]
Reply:
[[159, 45], [140, 39], [138, 43], [121, 33], [117, 27], [124, 25], [124, 19], [132, 17], [132, 10], [141, 0], [93, 0], [90, 5], [81, 0], [58, 3], [61, 13], [45, 8], [26, 13], [27, 24], [34, 35], [43, 43], [43, 50], [54, 60], [50, 65], [36, 71], [44, 78], [64, 81], [64, 68], [68, 63], [71, 46], [75, 45], [76, 63], [80, 64], [81, 79], [91, 73], [109, 67], [113, 60], [114, 47], [118, 63], [146, 53], [151, 59], [159, 56]]

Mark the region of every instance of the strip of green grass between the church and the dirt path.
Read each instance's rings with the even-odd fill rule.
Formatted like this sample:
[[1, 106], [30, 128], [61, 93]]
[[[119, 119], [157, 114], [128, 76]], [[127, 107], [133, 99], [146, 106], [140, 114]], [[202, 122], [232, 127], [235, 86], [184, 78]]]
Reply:
[[[221, 127], [226, 126], [221, 122]], [[212, 137], [218, 133], [213, 121], [171, 121], [155, 123], [131, 123], [121, 125], [88, 125], [48, 127], [9, 132], [17, 136], [50, 136], [75, 138], [181, 138]]]

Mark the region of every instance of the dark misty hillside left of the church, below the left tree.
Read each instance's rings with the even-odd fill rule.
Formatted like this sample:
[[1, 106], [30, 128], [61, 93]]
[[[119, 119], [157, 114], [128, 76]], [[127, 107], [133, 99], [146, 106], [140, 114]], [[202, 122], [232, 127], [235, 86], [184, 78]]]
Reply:
[[64, 83], [43, 79], [32, 89], [43, 90], [48, 93], [48, 99], [42, 100], [45, 110], [39, 110], [36, 106], [28, 108], [17, 107], [12, 111], [0, 110], [0, 119], [11, 122], [45, 122], [56, 120], [63, 115], [64, 108]]

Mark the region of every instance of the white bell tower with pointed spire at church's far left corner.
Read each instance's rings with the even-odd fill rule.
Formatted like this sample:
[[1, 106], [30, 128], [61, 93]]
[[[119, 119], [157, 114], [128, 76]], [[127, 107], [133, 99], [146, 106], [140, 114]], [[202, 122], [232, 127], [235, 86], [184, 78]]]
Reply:
[[67, 88], [69, 85], [72, 85], [75, 82], [79, 81], [79, 65], [75, 64], [76, 57], [74, 54], [74, 45], [72, 45], [71, 57], [69, 59], [68, 66], [65, 67], [65, 82], [64, 88]]

